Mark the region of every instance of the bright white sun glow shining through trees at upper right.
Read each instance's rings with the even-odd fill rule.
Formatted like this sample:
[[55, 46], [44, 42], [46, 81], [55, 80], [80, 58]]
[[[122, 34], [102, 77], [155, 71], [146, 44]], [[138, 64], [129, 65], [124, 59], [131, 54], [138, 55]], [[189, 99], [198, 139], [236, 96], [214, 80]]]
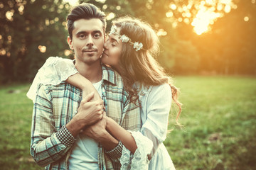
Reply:
[[[225, 13], [230, 13], [237, 6], [233, 3], [233, 0], [202, 0], [198, 1], [198, 3], [188, 1], [188, 4], [183, 4], [182, 6], [171, 3], [169, 4], [169, 8], [170, 11], [166, 13], [166, 17], [173, 17], [175, 11], [182, 16], [181, 18], [177, 18], [176, 21], [173, 21], [174, 27], [181, 22], [191, 24], [194, 32], [197, 35], [201, 35], [211, 30], [211, 26], [218, 18], [223, 17]], [[196, 10], [191, 10], [191, 8], [195, 8]], [[245, 21], [247, 20], [245, 18]]]

